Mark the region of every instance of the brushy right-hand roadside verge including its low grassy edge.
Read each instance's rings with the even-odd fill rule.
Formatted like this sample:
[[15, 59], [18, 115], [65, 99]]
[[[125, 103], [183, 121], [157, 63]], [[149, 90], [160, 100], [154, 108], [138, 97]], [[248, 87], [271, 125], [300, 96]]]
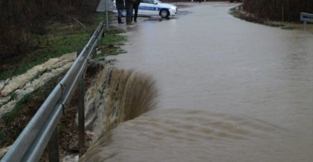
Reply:
[[313, 13], [313, 1], [246, 0], [230, 9], [230, 14], [242, 20], [290, 30], [302, 29], [299, 19], [302, 12]]

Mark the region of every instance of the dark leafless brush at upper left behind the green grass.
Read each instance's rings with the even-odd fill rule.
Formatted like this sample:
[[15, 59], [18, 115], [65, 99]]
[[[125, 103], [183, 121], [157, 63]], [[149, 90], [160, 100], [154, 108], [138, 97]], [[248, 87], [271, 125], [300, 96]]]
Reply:
[[0, 63], [36, 48], [33, 36], [46, 34], [47, 22], [88, 20], [98, 1], [0, 0]]

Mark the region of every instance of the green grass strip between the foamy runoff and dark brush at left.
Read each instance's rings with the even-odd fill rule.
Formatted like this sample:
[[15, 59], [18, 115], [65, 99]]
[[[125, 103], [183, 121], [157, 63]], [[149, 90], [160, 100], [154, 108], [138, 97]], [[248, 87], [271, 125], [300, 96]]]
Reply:
[[[48, 34], [32, 36], [34, 43], [40, 46], [37, 50], [28, 54], [22, 54], [22, 58], [12, 59], [2, 65], [0, 80], [6, 80], [14, 75], [25, 73], [30, 68], [42, 64], [48, 59], [60, 57], [62, 54], [75, 52], [82, 49], [89, 40], [93, 30], [98, 24], [105, 20], [104, 14], [95, 13], [91, 17], [91, 24], [81, 25], [79, 22], [62, 24], [60, 22], [48, 23]], [[120, 30], [105, 31], [107, 37], [102, 43], [114, 43], [114, 41], [123, 40], [122, 36], [114, 36]]]

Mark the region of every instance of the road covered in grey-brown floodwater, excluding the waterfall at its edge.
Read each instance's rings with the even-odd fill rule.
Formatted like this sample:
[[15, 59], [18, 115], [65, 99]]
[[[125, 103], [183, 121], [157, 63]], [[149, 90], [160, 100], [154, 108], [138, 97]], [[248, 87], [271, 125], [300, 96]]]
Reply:
[[312, 161], [312, 32], [239, 20], [233, 6], [201, 3], [138, 22], [115, 65], [151, 75], [158, 106], [104, 135], [94, 157]]

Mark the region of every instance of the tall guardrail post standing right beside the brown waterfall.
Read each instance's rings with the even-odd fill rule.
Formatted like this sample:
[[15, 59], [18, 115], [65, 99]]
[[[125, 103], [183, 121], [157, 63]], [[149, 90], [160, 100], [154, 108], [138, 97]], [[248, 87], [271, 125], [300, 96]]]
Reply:
[[[80, 52], [77, 52], [77, 57]], [[85, 147], [85, 102], [84, 102], [84, 73], [79, 76], [78, 82], [78, 109], [79, 109], [79, 154]]]

